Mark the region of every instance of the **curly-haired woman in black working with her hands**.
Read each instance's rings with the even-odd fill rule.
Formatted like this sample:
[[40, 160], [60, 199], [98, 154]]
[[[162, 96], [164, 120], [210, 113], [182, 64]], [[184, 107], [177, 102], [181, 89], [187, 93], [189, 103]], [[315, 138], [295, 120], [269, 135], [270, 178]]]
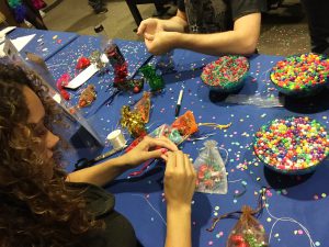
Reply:
[[[167, 162], [166, 246], [191, 246], [195, 171], [169, 139], [146, 138], [121, 157], [68, 175], [52, 131], [59, 109], [42, 79], [2, 61], [0, 104], [0, 246], [137, 246], [131, 223], [101, 186], [149, 158]], [[155, 146], [162, 149], [149, 150]]]

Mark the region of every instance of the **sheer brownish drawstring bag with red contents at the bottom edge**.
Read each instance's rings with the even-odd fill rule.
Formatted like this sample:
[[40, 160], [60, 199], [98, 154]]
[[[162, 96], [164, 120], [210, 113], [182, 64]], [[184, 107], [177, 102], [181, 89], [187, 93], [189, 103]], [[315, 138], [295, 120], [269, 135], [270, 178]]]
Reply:
[[264, 227], [252, 215], [250, 206], [242, 206], [242, 215], [230, 232], [226, 247], [266, 247], [269, 239]]

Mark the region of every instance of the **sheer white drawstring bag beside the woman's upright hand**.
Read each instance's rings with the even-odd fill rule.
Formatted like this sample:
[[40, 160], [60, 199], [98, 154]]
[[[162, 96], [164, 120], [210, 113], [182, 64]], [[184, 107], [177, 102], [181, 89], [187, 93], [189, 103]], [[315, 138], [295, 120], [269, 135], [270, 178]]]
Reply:
[[227, 175], [216, 141], [206, 141], [193, 164], [196, 177], [196, 190], [203, 193], [227, 193]]

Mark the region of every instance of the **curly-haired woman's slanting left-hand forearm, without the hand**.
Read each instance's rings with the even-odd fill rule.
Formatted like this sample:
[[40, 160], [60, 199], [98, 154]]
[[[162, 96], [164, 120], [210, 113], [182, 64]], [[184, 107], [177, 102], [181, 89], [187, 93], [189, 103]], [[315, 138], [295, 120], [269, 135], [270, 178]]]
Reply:
[[67, 178], [69, 182], [88, 182], [97, 186], [104, 186], [120, 176], [127, 169], [123, 157], [113, 158], [93, 167], [70, 173]]

